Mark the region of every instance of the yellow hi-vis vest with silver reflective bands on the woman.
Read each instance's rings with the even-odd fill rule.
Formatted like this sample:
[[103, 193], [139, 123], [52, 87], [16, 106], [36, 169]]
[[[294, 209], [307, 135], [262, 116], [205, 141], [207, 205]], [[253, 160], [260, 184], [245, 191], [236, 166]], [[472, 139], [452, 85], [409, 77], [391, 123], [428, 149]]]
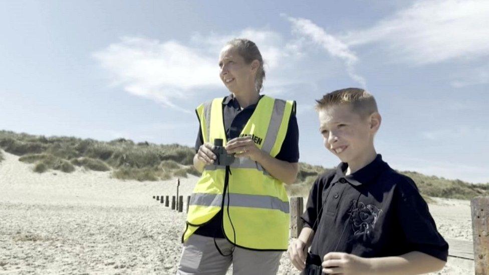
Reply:
[[[222, 98], [197, 107], [203, 142], [227, 140], [222, 118]], [[262, 151], [275, 157], [284, 142], [293, 101], [263, 96], [240, 136], [251, 136]], [[227, 180], [227, 188], [224, 189]], [[190, 198], [182, 242], [223, 210], [224, 236], [236, 246], [255, 250], [287, 250], [289, 198], [284, 183], [258, 162], [235, 158], [225, 166], [206, 165]]]

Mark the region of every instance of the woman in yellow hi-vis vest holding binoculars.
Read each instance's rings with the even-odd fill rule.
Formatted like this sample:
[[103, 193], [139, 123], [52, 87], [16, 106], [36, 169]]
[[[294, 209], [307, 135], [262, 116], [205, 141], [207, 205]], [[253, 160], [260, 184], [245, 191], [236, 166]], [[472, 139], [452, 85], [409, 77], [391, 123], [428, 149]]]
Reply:
[[[197, 107], [193, 159], [202, 171], [189, 205], [177, 274], [276, 274], [289, 239], [284, 184], [296, 180], [295, 102], [260, 95], [265, 71], [258, 47], [229, 41], [219, 56], [230, 94]], [[216, 140], [234, 159], [219, 163]]]

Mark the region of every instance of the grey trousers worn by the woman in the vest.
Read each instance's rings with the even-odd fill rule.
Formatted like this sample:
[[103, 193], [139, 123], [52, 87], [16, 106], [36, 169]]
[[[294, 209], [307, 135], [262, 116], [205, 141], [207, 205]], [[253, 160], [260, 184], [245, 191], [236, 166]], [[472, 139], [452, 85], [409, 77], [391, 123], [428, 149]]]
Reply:
[[233, 275], [264, 274], [275, 275], [279, 270], [280, 257], [283, 251], [255, 251], [235, 247], [225, 238], [214, 238], [193, 234], [183, 243], [182, 257], [177, 275], [218, 275], [225, 274], [232, 263]]

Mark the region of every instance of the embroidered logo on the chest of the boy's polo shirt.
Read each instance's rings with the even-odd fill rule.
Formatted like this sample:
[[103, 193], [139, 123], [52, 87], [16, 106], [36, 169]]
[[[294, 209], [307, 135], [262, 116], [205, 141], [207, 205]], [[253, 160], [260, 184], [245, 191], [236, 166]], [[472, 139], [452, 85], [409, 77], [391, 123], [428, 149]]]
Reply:
[[375, 223], [382, 214], [382, 209], [377, 208], [373, 204], [365, 204], [353, 200], [348, 211], [350, 221], [353, 227], [354, 235], [363, 235], [363, 238], [372, 238]]

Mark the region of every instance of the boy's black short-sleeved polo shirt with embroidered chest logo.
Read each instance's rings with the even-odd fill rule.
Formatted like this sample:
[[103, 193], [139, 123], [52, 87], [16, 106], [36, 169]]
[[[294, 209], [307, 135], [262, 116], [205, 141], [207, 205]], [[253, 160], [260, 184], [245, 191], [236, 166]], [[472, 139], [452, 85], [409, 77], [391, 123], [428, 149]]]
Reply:
[[411, 178], [381, 155], [345, 176], [347, 167], [341, 163], [320, 175], [311, 189], [302, 219], [315, 231], [312, 254], [322, 259], [332, 251], [361, 257], [420, 251], [446, 261], [448, 244]]

